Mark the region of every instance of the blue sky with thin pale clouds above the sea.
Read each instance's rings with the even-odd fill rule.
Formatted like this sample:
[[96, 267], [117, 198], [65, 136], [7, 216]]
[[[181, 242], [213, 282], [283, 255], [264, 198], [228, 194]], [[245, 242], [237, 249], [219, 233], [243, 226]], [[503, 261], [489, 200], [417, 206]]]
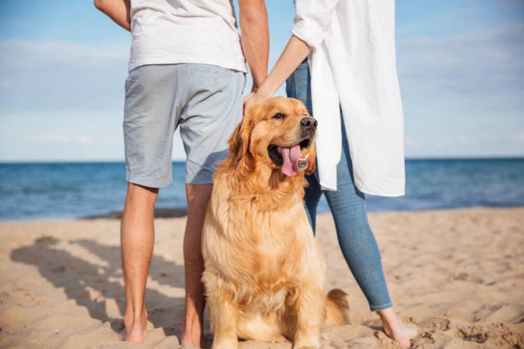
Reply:
[[[272, 66], [293, 1], [266, 3]], [[524, 1], [403, 0], [396, 20], [407, 156], [524, 156]], [[92, 1], [2, 0], [0, 161], [123, 160], [129, 44]]]

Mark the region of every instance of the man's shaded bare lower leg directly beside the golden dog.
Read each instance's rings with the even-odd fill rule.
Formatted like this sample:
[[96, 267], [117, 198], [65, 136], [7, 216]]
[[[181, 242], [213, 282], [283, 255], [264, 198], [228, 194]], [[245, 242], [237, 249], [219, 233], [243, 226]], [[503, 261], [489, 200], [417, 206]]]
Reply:
[[184, 234], [186, 309], [182, 324], [182, 345], [200, 346], [205, 306], [202, 272], [202, 226], [211, 198], [212, 184], [186, 184], [187, 223]]

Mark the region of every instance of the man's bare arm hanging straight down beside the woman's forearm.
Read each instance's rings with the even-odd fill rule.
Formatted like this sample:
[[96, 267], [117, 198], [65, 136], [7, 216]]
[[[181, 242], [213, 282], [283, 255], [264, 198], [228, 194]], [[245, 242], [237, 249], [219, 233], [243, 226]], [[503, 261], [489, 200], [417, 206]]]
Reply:
[[253, 76], [256, 91], [268, 75], [269, 29], [264, 0], [238, 0], [240, 43]]

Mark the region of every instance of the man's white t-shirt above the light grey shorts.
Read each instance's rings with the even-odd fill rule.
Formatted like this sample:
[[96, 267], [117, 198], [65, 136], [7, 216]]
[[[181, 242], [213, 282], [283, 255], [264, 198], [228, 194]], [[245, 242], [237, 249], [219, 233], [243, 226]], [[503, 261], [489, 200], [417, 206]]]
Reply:
[[200, 63], [246, 72], [231, 0], [131, 0], [129, 70]]

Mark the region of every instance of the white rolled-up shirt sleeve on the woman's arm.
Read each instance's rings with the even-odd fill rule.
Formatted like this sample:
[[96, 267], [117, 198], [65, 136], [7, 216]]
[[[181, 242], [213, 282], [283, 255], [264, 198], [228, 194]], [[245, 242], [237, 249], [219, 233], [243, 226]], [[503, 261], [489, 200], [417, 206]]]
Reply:
[[326, 38], [335, 6], [340, 0], [295, 0], [296, 15], [291, 34], [311, 47]]

